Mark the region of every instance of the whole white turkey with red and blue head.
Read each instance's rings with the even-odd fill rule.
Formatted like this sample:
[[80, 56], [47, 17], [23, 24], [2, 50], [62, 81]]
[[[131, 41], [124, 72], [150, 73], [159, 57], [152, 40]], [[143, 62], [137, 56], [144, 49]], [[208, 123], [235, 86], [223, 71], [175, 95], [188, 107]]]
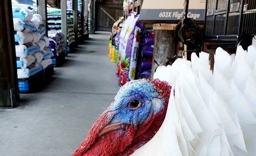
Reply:
[[127, 82], [72, 156], [256, 156], [256, 37], [208, 58]]

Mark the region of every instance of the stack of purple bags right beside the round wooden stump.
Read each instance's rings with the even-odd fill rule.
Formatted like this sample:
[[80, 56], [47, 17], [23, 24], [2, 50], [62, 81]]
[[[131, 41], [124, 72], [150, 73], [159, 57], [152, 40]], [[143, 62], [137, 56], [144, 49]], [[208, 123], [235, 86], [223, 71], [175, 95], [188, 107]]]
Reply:
[[141, 56], [138, 61], [137, 77], [150, 78], [152, 68], [152, 58], [154, 50], [154, 30], [147, 28], [141, 41]]

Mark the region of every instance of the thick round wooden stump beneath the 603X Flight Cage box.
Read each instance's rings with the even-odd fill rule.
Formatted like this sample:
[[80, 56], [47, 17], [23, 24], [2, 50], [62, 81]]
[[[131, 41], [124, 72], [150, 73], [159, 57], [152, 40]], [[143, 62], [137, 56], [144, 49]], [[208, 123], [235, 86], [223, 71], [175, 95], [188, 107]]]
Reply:
[[155, 39], [151, 78], [158, 66], [167, 65], [166, 62], [176, 55], [175, 27], [176, 24], [153, 24]]

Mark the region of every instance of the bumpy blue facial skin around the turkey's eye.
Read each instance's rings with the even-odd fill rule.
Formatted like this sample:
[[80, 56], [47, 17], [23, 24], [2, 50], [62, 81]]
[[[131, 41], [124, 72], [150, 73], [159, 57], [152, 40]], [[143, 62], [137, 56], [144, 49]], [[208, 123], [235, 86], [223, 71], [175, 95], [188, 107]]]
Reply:
[[134, 80], [120, 88], [108, 111], [113, 112], [110, 124], [140, 125], [149, 115], [163, 109], [164, 98], [154, 85], [146, 80]]

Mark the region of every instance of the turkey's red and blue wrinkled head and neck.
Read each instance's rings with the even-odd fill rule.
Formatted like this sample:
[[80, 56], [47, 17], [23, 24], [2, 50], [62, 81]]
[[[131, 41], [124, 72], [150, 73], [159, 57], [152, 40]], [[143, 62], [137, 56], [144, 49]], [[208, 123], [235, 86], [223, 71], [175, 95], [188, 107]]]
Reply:
[[72, 156], [128, 156], [150, 141], [165, 118], [171, 86], [158, 79], [127, 82]]

